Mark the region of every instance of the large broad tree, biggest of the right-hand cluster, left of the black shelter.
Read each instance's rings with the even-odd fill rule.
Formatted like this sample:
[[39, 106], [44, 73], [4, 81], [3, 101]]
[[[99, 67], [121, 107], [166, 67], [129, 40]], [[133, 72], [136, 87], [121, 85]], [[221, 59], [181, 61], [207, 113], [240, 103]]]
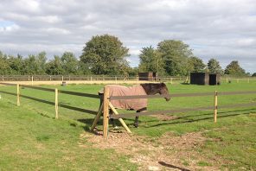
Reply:
[[182, 41], [167, 40], [157, 45], [161, 53], [165, 72], [170, 75], [188, 75], [189, 57], [193, 56], [192, 49]]

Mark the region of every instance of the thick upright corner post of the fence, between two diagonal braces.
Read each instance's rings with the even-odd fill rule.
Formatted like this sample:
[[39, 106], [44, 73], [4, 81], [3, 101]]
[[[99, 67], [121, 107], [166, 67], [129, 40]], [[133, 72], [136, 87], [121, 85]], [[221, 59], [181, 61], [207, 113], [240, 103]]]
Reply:
[[108, 133], [108, 119], [109, 119], [109, 87], [104, 88], [104, 101], [103, 101], [103, 136], [107, 139]]

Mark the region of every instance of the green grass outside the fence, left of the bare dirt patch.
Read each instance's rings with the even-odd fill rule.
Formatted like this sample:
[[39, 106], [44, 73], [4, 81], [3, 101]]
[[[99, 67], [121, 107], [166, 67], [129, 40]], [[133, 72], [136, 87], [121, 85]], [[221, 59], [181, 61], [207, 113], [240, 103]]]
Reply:
[[112, 149], [80, 148], [82, 124], [0, 101], [0, 170], [136, 170]]

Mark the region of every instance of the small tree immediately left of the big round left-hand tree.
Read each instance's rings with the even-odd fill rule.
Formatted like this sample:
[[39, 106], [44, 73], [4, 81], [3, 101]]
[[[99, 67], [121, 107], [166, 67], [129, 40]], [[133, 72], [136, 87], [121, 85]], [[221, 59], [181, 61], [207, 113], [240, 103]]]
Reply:
[[65, 52], [61, 56], [61, 66], [63, 68], [63, 74], [77, 74], [78, 73], [78, 60], [71, 52]]

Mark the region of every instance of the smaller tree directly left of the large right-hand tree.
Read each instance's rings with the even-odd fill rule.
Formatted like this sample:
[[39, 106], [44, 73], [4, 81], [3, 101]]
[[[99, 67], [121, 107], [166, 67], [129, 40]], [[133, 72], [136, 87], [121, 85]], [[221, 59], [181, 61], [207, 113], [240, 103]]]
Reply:
[[140, 72], [156, 72], [158, 75], [164, 73], [164, 63], [160, 53], [152, 48], [142, 48], [141, 54], [139, 54], [139, 71]]

